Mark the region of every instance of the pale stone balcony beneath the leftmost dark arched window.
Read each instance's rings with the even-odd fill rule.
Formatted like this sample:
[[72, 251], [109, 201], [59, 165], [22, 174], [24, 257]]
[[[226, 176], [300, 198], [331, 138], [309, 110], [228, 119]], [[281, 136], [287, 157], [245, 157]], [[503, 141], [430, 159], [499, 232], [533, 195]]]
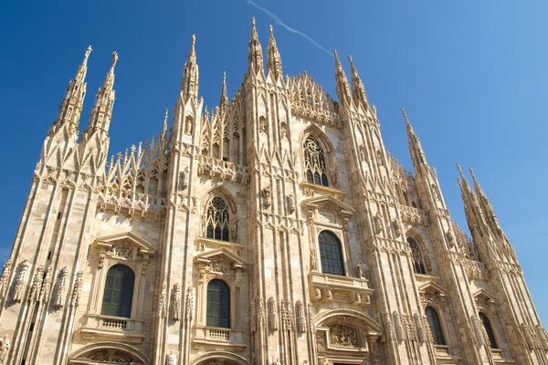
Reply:
[[142, 319], [121, 318], [86, 314], [86, 324], [79, 329], [84, 339], [118, 339], [124, 342], [141, 343], [146, 338]]

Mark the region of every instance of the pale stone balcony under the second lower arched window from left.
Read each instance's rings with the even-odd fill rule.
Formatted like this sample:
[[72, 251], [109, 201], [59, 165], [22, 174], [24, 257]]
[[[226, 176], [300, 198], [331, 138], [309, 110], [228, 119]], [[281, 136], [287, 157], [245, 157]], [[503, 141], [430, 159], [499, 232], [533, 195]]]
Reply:
[[243, 331], [234, 328], [195, 326], [192, 345], [195, 349], [224, 348], [238, 351], [248, 347], [243, 340]]

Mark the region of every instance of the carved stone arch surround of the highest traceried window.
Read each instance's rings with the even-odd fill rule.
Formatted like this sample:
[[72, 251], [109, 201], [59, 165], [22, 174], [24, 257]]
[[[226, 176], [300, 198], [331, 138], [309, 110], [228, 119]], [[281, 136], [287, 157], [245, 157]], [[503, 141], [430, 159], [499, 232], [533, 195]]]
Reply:
[[316, 125], [311, 125], [309, 128], [304, 130], [300, 135], [300, 159], [302, 163], [303, 181], [306, 183], [311, 183], [309, 179], [307, 178], [308, 169], [305, 168], [305, 165], [307, 162], [307, 157], [305, 155], [305, 142], [309, 139], [316, 141], [318, 147], [323, 152], [323, 159], [325, 162], [326, 183], [327, 183], [325, 184], [321, 182], [321, 183], [312, 183], [312, 184], [337, 188], [339, 186], [339, 177], [336, 169], [335, 155], [333, 153], [334, 148], [333, 148], [332, 142], [325, 135], [325, 132], [321, 130], [319, 127], [317, 127]]

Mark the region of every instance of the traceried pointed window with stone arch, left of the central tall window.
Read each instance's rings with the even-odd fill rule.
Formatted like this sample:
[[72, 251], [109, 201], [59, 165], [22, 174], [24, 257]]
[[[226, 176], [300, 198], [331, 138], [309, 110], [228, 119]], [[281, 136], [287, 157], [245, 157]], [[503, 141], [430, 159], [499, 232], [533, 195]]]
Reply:
[[[225, 207], [219, 205], [219, 198], [223, 200]], [[237, 240], [237, 205], [234, 195], [228, 192], [227, 188], [224, 186], [216, 186], [205, 193], [201, 209], [202, 237], [226, 242], [234, 242]], [[216, 212], [219, 213], [217, 216], [211, 216]], [[219, 219], [217, 219], [217, 217], [225, 214], [228, 215], [226, 221], [219, 221]], [[217, 228], [217, 232], [213, 232], [213, 235], [211, 235], [212, 228], [214, 231]], [[224, 230], [226, 230], [226, 232], [224, 232]]]

